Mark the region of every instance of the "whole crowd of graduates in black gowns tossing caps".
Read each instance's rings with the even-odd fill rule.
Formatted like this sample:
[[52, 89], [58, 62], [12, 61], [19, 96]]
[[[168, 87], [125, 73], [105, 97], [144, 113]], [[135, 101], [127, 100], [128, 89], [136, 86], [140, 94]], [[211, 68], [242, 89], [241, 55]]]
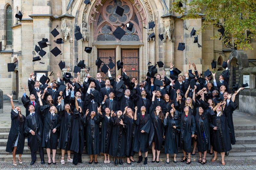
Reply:
[[65, 164], [66, 152], [68, 162], [81, 163], [85, 149], [90, 155], [89, 164], [93, 161], [97, 164], [100, 153], [104, 154], [104, 163], [110, 163], [112, 156], [115, 165], [123, 164], [122, 157], [131, 164], [138, 152], [136, 162], [143, 161], [144, 153], [146, 165], [150, 148], [152, 162], [159, 163], [160, 151], [164, 151], [166, 163], [169, 164], [169, 154], [176, 163], [178, 148], [181, 148], [184, 155], [181, 162], [190, 164], [197, 148], [200, 163], [207, 162], [209, 150], [210, 154], [214, 153], [211, 161], [217, 159], [219, 152], [221, 164], [225, 165], [225, 154], [228, 155], [231, 144], [235, 144], [232, 118], [237, 107], [235, 95], [243, 88], [236, 87], [231, 94], [228, 69], [217, 82], [215, 73], [204, 77], [194, 63], [189, 63], [184, 76], [170, 63], [169, 78], [165, 72], [153, 73], [155, 67], [149, 66], [146, 80], [139, 83], [137, 78], [126, 75], [125, 68], [116, 79], [111, 77], [109, 69], [109, 79], [105, 81], [101, 73], [94, 79], [86, 70], [83, 83], [79, 82], [80, 73], [73, 78], [68, 68], [62, 78], [58, 73], [57, 81], [50, 82], [47, 78], [41, 85], [32, 72], [28, 80], [29, 96], [24, 86], [21, 99], [26, 116], [21, 114], [19, 106], [14, 107], [12, 95], [8, 94], [12, 125], [6, 151], [12, 153], [13, 165], [17, 165], [16, 154], [22, 163], [25, 137], [31, 151], [30, 165], [35, 163], [38, 150], [41, 164], [45, 164], [44, 148], [48, 164], [56, 164], [57, 148], [61, 149], [61, 164]]

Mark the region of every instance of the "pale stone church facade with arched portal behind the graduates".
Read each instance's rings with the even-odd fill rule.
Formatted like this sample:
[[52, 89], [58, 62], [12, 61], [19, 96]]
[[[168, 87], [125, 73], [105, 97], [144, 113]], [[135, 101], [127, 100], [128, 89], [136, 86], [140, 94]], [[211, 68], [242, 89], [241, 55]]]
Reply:
[[[119, 17], [114, 11], [117, 5], [124, 8], [124, 14]], [[30, 72], [35, 72], [37, 78], [42, 74], [48, 76], [52, 71], [52, 80], [61, 71], [58, 63], [65, 61], [73, 70], [80, 60], [85, 60], [90, 67], [90, 74], [95, 75], [99, 70], [95, 60], [101, 58], [105, 63], [111, 58], [114, 63], [118, 60], [124, 63], [127, 74], [143, 80], [146, 77], [148, 63], [162, 61], [164, 68], [169, 69], [169, 63], [174, 63], [181, 71], [188, 70], [188, 63], [195, 63], [197, 70], [211, 69], [211, 61], [218, 61], [217, 68], [221, 70], [221, 63], [228, 58], [232, 47], [224, 47], [218, 39], [211, 36], [218, 33], [220, 26], [211, 26], [204, 33], [198, 34], [199, 48], [193, 43], [190, 31], [194, 27], [198, 30], [204, 21], [203, 15], [197, 19], [183, 20], [181, 15], [169, 11], [172, 0], [91, 0], [86, 5], [84, 0], [1, 0], [0, 2], [0, 89], [4, 94], [14, 93], [16, 99], [23, 94]], [[15, 14], [22, 11], [23, 18], [18, 21]], [[148, 22], [154, 21], [154, 29], [147, 29]], [[122, 27], [122, 23], [132, 22], [133, 30]], [[76, 41], [74, 30], [80, 26], [83, 39]], [[116, 39], [110, 29], [122, 27], [126, 34], [121, 40]], [[188, 29], [184, 29], [187, 27]], [[56, 28], [60, 34], [53, 37], [50, 33]], [[155, 38], [148, 39], [151, 33]], [[163, 34], [163, 41], [158, 34]], [[36, 56], [33, 52], [35, 45], [42, 38], [47, 38], [51, 44], [44, 48], [46, 55], [39, 61], [32, 62]], [[64, 44], [56, 44], [54, 40], [62, 38]], [[178, 43], [185, 43], [185, 50], [178, 51]], [[62, 55], [55, 57], [50, 53], [54, 47], [62, 51]], [[90, 54], [85, 47], [92, 47]], [[255, 51], [250, 51], [248, 58], [253, 58]], [[37, 55], [38, 56], [38, 55]], [[7, 63], [17, 63], [14, 72], [7, 72]], [[82, 72], [83, 81], [84, 70]], [[112, 69], [113, 77], [121, 70]], [[73, 74], [73, 73], [72, 73]], [[73, 74], [73, 76], [76, 76]], [[107, 78], [102, 73], [103, 78]]]

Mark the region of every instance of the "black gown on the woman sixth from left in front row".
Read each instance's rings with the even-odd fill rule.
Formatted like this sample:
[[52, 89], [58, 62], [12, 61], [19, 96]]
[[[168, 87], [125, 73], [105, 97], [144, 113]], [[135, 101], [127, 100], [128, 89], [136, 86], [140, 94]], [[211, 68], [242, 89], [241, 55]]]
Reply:
[[103, 115], [97, 114], [91, 119], [87, 117], [86, 124], [86, 148], [88, 155], [100, 154], [100, 129], [99, 124], [104, 118]]

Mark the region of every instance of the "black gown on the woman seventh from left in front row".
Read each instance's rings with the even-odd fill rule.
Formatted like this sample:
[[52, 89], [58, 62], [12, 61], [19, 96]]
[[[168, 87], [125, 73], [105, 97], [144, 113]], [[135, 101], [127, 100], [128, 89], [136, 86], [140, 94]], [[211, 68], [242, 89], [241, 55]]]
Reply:
[[100, 152], [101, 153], [109, 153], [111, 133], [112, 133], [112, 125], [109, 121], [109, 118], [104, 115], [101, 120], [101, 134], [100, 134]]

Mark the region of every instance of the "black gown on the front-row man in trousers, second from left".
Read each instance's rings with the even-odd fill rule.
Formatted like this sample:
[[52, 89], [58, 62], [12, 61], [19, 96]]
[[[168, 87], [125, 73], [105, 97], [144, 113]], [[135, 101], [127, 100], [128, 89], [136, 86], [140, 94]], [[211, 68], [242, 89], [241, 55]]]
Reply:
[[[44, 125], [41, 119], [40, 109], [37, 109], [34, 116], [28, 115], [24, 124], [24, 134], [28, 136], [28, 143], [31, 152], [37, 152], [39, 147], [42, 147]], [[35, 135], [32, 135], [29, 131], [33, 130]]]

